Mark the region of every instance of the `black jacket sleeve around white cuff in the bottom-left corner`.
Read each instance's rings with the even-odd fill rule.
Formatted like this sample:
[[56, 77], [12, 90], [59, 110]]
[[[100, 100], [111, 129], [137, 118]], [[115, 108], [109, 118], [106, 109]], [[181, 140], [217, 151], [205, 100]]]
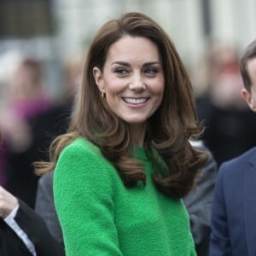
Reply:
[[[50, 236], [44, 220], [38, 216], [23, 201], [19, 201], [20, 207], [15, 216], [15, 221], [26, 233], [26, 236], [35, 246], [38, 256], [62, 256], [65, 255], [63, 248]], [[1, 219], [0, 221], [0, 255], [1, 256], [26, 256], [32, 255], [27, 250], [19, 236], [9, 228]]]

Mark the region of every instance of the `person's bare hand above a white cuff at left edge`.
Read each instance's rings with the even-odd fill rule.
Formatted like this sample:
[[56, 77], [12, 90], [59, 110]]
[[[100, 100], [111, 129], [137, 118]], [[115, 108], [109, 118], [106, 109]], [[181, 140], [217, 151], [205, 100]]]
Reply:
[[17, 198], [0, 186], [0, 218], [6, 218], [18, 204]]

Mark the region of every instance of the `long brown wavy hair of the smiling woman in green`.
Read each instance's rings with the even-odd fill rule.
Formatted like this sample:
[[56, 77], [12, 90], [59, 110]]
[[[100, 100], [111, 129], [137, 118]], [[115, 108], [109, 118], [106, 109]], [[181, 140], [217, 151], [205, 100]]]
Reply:
[[61, 150], [76, 137], [86, 137], [116, 167], [125, 186], [136, 186], [138, 181], [146, 183], [143, 164], [131, 153], [132, 139], [127, 125], [108, 108], [92, 73], [93, 67], [103, 69], [109, 47], [125, 35], [148, 38], [160, 51], [165, 93], [160, 108], [148, 119], [144, 147], [154, 162], [155, 186], [166, 195], [181, 198], [192, 189], [196, 174], [207, 162], [207, 154], [189, 143], [189, 138], [201, 135], [203, 125], [198, 123], [189, 76], [172, 40], [154, 20], [139, 13], [110, 20], [96, 33], [84, 64], [69, 131], [53, 141], [49, 148], [50, 162], [38, 163], [36, 172], [53, 170]]

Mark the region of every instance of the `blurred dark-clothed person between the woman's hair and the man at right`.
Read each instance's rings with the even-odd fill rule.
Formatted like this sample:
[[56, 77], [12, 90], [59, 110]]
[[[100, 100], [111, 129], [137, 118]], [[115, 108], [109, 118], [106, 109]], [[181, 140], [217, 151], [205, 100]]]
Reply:
[[255, 145], [256, 120], [241, 99], [238, 49], [231, 44], [214, 42], [204, 65], [204, 73], [198, 69], [203, 77], [199, 83], [207, 86], [197, 96], [197, 111], [199, 119], [206, 124], [202, 138], [219, 166]]

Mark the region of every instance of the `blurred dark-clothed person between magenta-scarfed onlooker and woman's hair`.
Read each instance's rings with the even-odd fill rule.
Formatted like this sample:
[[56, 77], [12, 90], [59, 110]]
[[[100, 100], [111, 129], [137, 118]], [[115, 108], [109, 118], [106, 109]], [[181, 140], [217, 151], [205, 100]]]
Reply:
[[81, 79], [83, 55], [69, 55], [61, 65], [62, 84], [59, 96], [44, 113], [33, 119], [34, 137], [37, 138], [37, 160], [48, 160], [48, 148], [51, 141], [67, 131], [75, 94]]

